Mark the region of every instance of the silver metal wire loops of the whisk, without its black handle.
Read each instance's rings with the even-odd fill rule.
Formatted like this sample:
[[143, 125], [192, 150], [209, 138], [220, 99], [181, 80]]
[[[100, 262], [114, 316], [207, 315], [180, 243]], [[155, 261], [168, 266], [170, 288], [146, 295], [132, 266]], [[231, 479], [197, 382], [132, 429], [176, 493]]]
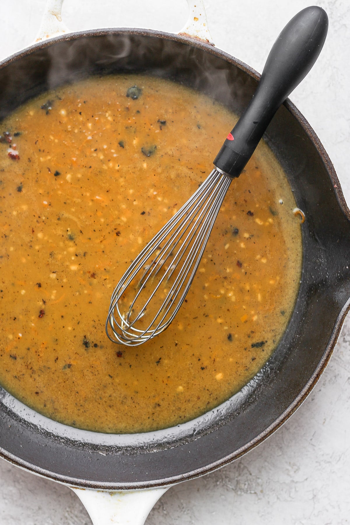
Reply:
[[136, 346], [172, 322], [195, 277], [232, 178], [214, 169], [143, 248], [115, 287], [105, 330]]

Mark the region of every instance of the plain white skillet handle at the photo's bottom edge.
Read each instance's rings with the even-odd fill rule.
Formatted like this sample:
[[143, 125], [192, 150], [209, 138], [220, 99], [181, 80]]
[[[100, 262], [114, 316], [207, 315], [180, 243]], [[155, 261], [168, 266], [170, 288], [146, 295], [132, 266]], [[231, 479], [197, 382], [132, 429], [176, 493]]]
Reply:
[[88, 511], [93, 525], [144, 525], [168, 487], [107, 492], [70, 487]]

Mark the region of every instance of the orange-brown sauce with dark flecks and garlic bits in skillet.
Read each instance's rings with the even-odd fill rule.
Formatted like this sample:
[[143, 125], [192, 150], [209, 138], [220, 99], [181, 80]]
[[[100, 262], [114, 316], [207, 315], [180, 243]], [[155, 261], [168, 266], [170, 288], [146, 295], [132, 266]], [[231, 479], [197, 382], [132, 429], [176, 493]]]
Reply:
[[36, 411], [144, 432], [227, 400], [267, 361], [299, 288], [300, 220], [266, 144], [233, 181], [186, 302], [126, 348], [111, 292], [212, 169], [236, 117], [170, 81], [110, 76], [46, 93], [2, 123], [0, 383]]

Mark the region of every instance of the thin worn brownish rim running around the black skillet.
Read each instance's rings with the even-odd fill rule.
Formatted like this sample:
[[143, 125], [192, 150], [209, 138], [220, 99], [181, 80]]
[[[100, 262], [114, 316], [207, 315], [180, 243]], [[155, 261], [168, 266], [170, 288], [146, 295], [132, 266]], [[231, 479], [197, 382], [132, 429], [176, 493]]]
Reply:
[[[197, 38], [189, 37], [184, 34], [175, 35], [172, 33], [165, 33], [164, 31], [157, 31], [153, 29], [150, 29], [150, 30], [149, 29], [137, 29], [137, 28], [90, 29], [87, 31], [76, 31], [74, 33], [60, 35], [55, 38], [50, 38], [45, 41], [40, 41], [0, 61], [0, 70], [6, 67], [7, 65], [11, 64], [12, 62], [16, 61], [18, 58], [25, 57], [29, 55], [32, 51], [35, 51], [37, 49], [40, 49], [40, 48], [44, 49], [50, 46], [51, 44], [55, 44], [55, 43], [62, 42], [62, 41], [75, 40], [75, 39], [79, 39], [83, 37], [120, 35], [120, 34], [141, 35], [141, 36], [146, 36], [146, 37], [157, 37], [157, 38], [162, 38], [166, 40], [177, 41], [179, 43], [201, 49], [205, 51], [206, 53], [210, 53], [221, 59], [224, 59], [225, 61], [229, 62], [229, 64], [234, 65], [235, 67], [239, 68], [240, 70], [242, 70], [243, 72], [245, 72], [247, 75], [249, 75], [255, 80], [259, 80], [260, 78], [260, 74], [256, 70], [254, 70], [253, 68], [245, 64], [245, 62], [242, 62], [239, 59], [232, 57], [231, 55], [227, 54], [225, 51], [222, 51], [214, 47], [213, 45], [206, 43], [205, 41], [202, 41]], [[306, 133], [307, 137], [311, 140], [317, 153], [321, 157], [326, 167], [326, 170], [328, 172], [328, 175], [330, 176], [338, 205], [340, 206], [343, 214], [350, 221], [350, 211], [346, 204], [346, 201], [345, 201], [345, 198], [344, 198], [341, 186], [340, 186], [340, 182], [334, 170], [333, 164], [329, 156], [327, 155], [320, 139], [317, 137], [316, 133], [312, 129], [309, 122], [307, 122], [307, 120], [303, 117], [301, 112], [294, 106], [294, 104], [289, 99], [287, 99], [284, 102], [284, 106], [285, 108], [287, 108], [287, 110], [292, 114], [292, 116], [294, 116], [294, 118], [301, 125], [302, 129]], [[52, 472], [51, 470], [47, 470], [47, 469], [38, 467], [34, 464], [29, 463], [28, 461], [18, 458], [17, 456], [14, 456], [12, 453], [8, 453], [3, 448], [0, 448], [0, 457], [3, 457], [10, 463], [20, 468], [24, 468], [25, 470], [28, 470], [32, 472], [33, 474], [52, 479], [54, 481], [57, 481], [57, 482], [60, 482], [66, 485], [82, 487], [82, 488], [93, 488], [93, 489], [125, 490], [125, 489], [161, 487], [161, 486], [173, 485], [178, 482], [182, 482], [182, 481], [189, 480], [189, 479], [194, 479], [199, 476], [208, 474], [209, 472], [217, 470], [218, 468], [225, 466], [228, 463], [231, 463], [231, 461], [234, 461], [235, 459], [241, 457], [243, 454], [247, 453], [249, 450], [251, 450], [252, 448], [262, 443], [275, 430], [281, 427], [287, 421], [287, 419], [289, 419], [289, 417], [296, 411], [296, 409], [299, 408], [299, 406], [303, 403], [306, 397], [310, 394], [311, 390], [313, 389], [317, 381], [320, 379], [323, 371], [325, 370], [325, 367], [328, 361], [330, 360], [331, 355], [334, 351], [335, 345], [337, 343], [337, 340], [342, 330], [342, 326], [343, 326], [346, 314], [348, 313], [349, 310], [350, 310], [350, 298], [346, 301], [342, 310], [338, 314], [338, 317], [336, 319], [336, 322], [332, 330], [330, 340], [328, 341], [328, 344], [325, 348], [322, 359], [317, 364], [316, 369], [313, 372], [312, 376], [310, 377], [309, 381], [307, 381], [307, 383], [304, 385], [299, 395], [294, 398], [293, 402], [285, 409], [285, 411], [277, 419], [275, 419], [275, 421], [271, 425], [269, 425], [268, 428], [266, 428], [263, 432], [261, 432], [255, 438], [251, 439], [248, 443], [246, 443], [246, 445], [240, 447], [238, 450], [232, 452], [231, 454], [226, 455], [225, 457], [217, 461], [214, 461], [213, 463], [205, 465], [204, 467], [190, 470], [186, 472], [185, 474], [180, 474], [177, 476], [172, 476], [172, 477], [167, 477], [167, 478], [165, 477], [165, 478], [157, 479], [157, 480], [147, 480], [147, 481], [142, 481], [142, 482], [124, 482], [124, 483], [118, 484], [116, 482], [108, 482], [108, 481], [101, 482], [101, 481], [82, 480], [78, 478], [65, 476], [62, 474], [57, 474], [55, 472]]]

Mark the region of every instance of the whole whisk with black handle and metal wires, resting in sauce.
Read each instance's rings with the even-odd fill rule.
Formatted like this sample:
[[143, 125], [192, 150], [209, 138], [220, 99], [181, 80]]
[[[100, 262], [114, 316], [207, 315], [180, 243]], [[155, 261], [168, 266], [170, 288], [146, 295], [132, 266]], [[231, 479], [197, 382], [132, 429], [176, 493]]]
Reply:
[[227, 135], [214, 169], [132, 262], [111, 296], [105, 330], [111, 341], [140, 345], [163, 332], [186, 298], [222, 201], [274, 113], [310, 71], [328, 18], [312, 6], [295, 15], [275, 41], [249, 106]]

